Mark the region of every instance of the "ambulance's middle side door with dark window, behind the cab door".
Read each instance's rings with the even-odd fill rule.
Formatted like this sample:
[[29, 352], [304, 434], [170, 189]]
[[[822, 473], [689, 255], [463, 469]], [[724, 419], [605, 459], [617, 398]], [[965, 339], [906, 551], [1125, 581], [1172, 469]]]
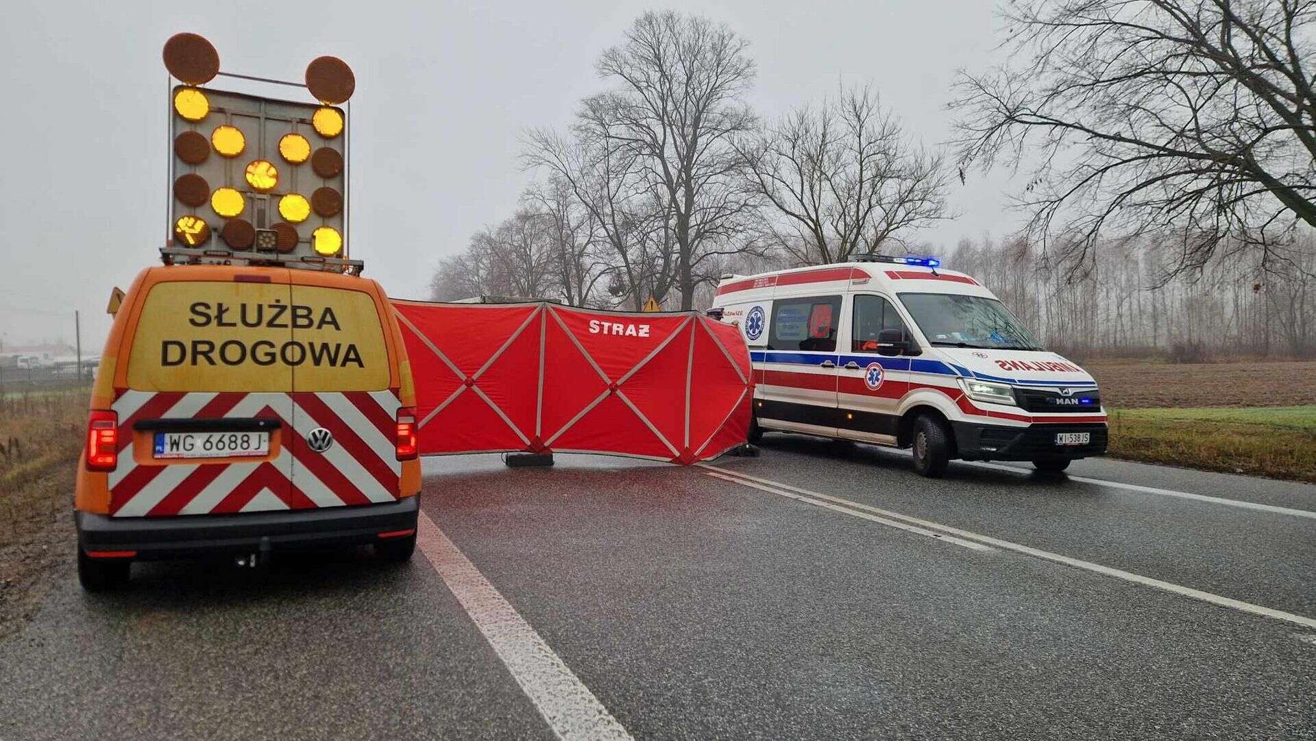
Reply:
[[778, 296], [763, 353], [759, 420], [766, 426], [836, 434], [841, 296]]

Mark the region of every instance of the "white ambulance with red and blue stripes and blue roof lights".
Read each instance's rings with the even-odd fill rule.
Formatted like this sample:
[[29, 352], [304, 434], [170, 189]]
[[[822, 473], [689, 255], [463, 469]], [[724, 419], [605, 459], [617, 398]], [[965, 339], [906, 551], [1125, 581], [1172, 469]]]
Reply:
[[1105, 453], [1092, 376], [937, 258], [726, 275], [712, 311], [750, 349], [751, 440], [776, 430], [909, 447], [925, 476], [955, 458], [1059, 473]]

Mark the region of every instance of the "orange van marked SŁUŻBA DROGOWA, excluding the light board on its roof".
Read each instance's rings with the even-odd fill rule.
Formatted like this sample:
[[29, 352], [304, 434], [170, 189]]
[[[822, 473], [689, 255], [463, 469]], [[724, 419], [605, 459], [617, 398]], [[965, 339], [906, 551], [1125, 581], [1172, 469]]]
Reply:
[[374, 280], [270, 266], [143, 270], [122, 299], [78, 471], [88, 588], [136, 559], [372, 544], [408, 558], [415, 392]]

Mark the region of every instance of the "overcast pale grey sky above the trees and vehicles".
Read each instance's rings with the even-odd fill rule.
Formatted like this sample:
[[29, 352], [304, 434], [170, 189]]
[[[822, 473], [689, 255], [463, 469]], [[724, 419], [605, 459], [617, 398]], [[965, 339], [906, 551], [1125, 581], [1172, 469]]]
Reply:
[[[700, 12], [746, 37], [765, 116], [871, 82], [928, 142], [949, 136], [954, 70], [988, 66], [998, 28], [990, 0], [7, 0], [0, 336], [71, 341], [80, 309], [84, 349], [99, 353], [111, 287], [157, 263], [170, 146], [161, 47], [172, 33], [209, 38], [225, 71], [300, 80], [321, 54], [351, 64], [353, 257], [391, 295], [426, 297], [437, 259], [515, 208], [529, 178], [522, 129], [565, 125], [603, 84], [599, 53], [650, 8]], [[1013, 229], [1008, 188], [1004, 174], [954, 180], [959, 218], [920, 238], [953, 246]]]

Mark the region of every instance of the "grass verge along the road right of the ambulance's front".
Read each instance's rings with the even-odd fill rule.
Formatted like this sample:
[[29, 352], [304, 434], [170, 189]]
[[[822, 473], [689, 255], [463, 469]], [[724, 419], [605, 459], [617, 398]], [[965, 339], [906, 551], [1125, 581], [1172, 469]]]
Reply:
[[1316, 405], [1116, 409], [1115, 458], [1316, 483]]

